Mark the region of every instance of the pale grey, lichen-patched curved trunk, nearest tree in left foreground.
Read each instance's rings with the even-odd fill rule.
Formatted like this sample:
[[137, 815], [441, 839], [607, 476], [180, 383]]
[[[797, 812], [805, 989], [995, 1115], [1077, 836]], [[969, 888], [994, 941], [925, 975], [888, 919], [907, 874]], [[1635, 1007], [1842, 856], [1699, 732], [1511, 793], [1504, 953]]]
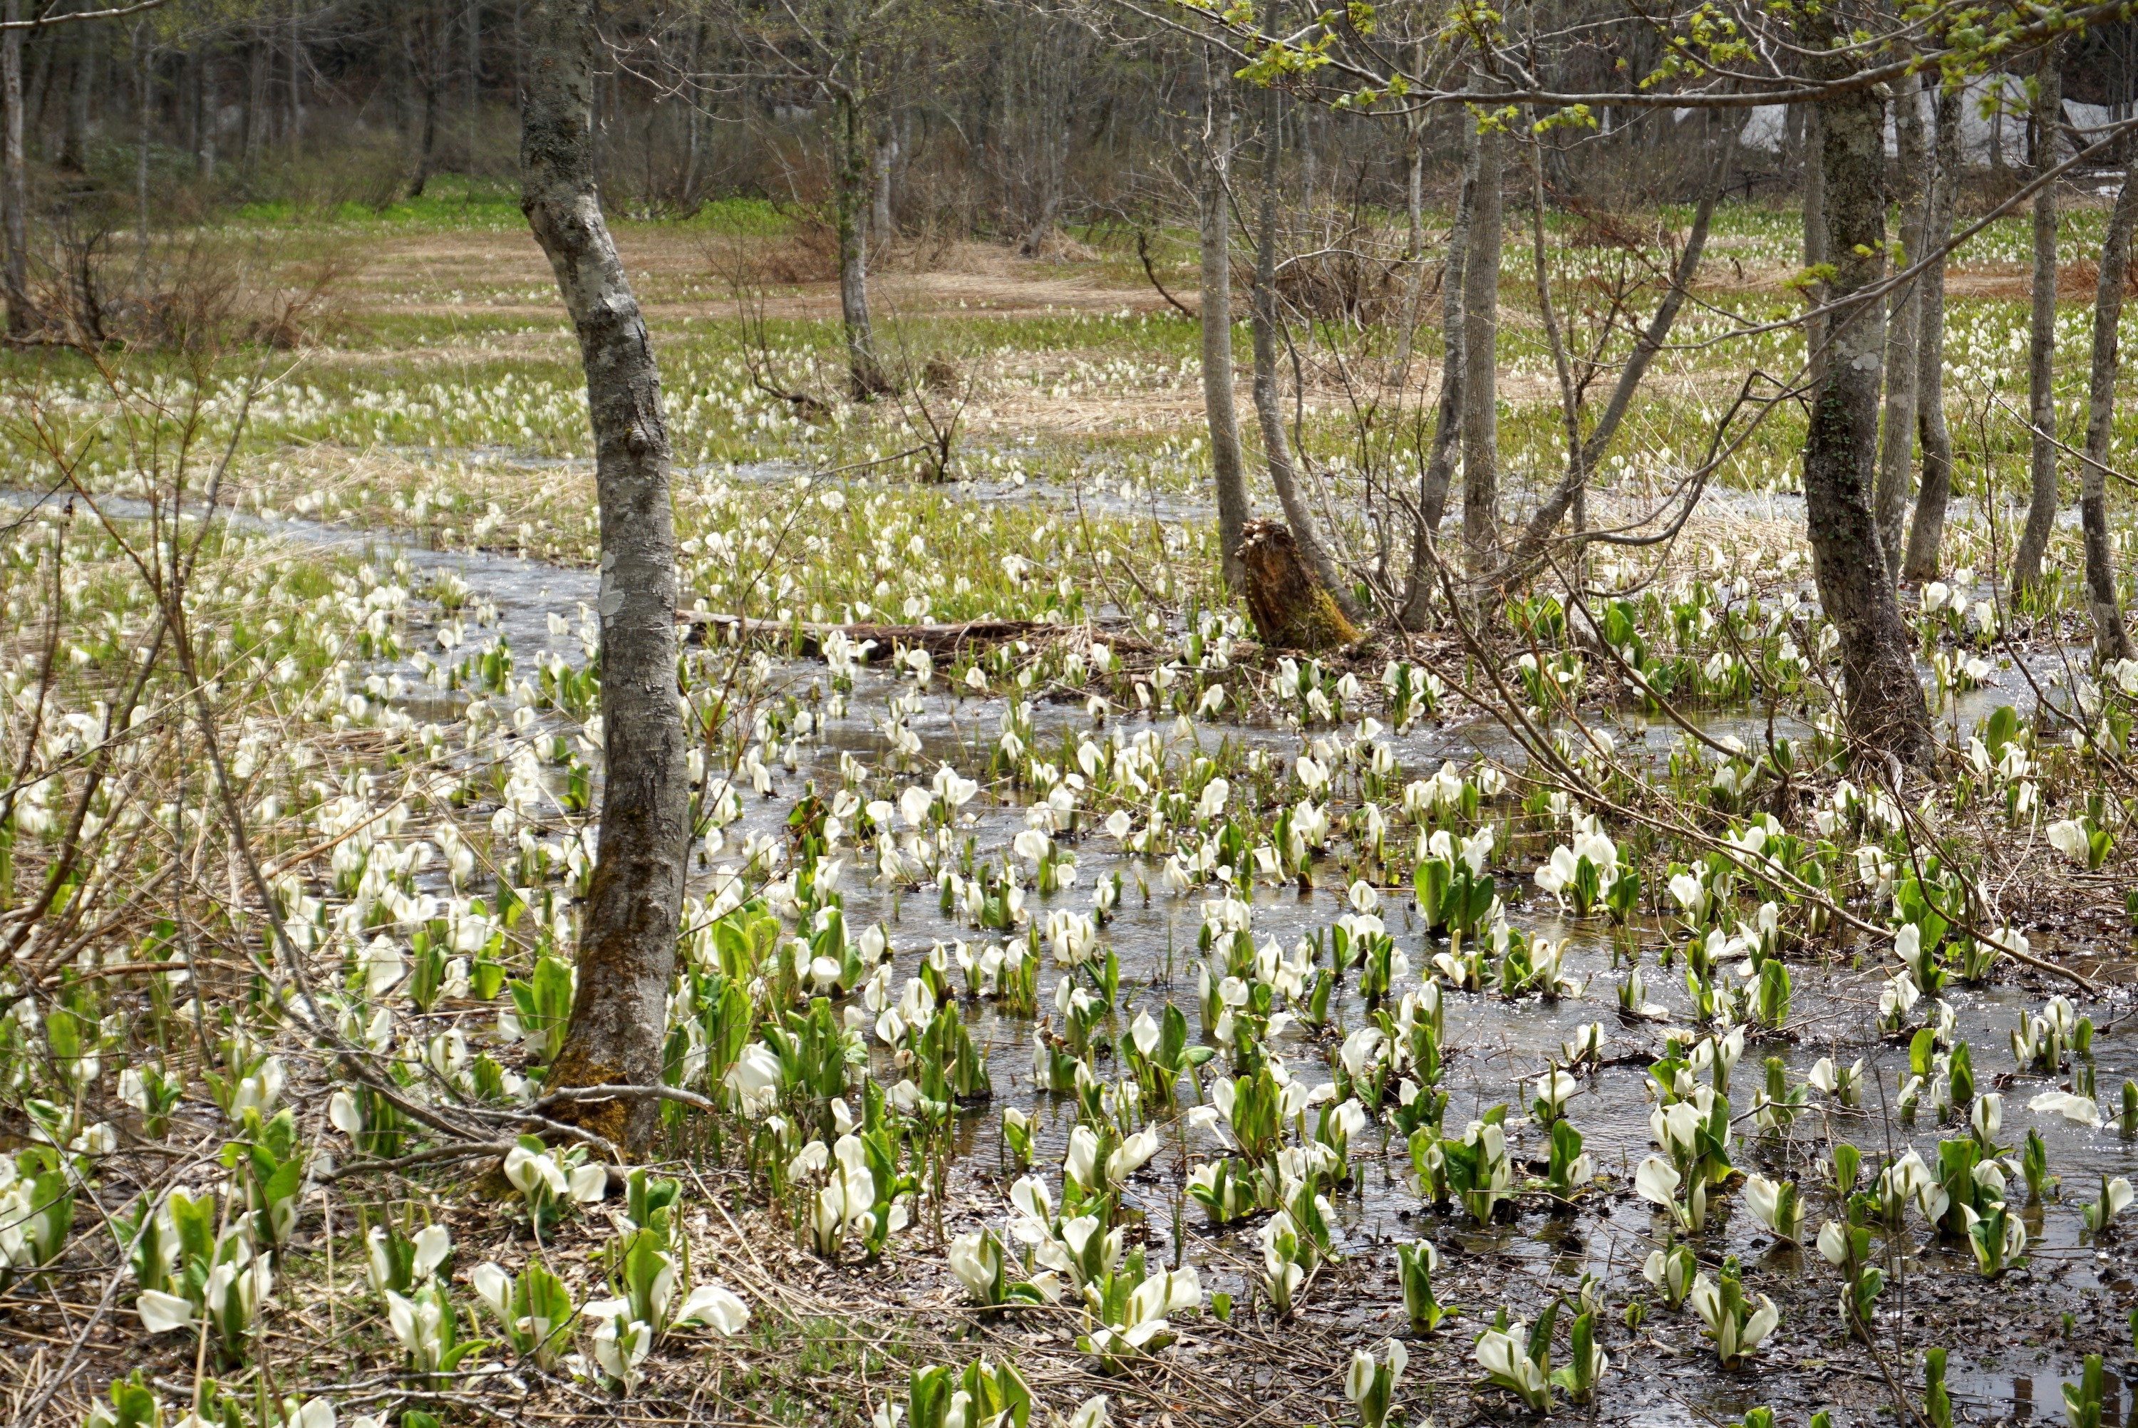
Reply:
[[[579, 333], [601, 502], [601, 847], [579, 934], [556, 1086], [661, 1084], [688, 851], [688, 774], [676, 703], [676, 522], [652, 340], [592, 167], [592, 0], [528, 6], [522, 209]], [[654, 1101], [588, 1105], [582, 1122], [644, 1148]]]

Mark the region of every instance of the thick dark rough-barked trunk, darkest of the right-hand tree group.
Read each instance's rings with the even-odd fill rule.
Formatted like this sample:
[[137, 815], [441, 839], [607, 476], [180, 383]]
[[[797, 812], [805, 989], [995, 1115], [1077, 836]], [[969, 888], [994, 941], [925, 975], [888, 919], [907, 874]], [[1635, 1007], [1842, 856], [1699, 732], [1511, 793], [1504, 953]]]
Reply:
[[[1847, 304], [1886, 267], [1886, 105], [1854, 90], [1819, 100], [1819, 209], [1834, 269], [1828, 299]], [[1843, 306], [1826, 340], [1804, 440], [1804, 517], [1819, 603], [1841, 637], [1847, 729], [1871, 750], [1922, 763], [1931, 714], [1871, 513], [1884, 304]]]

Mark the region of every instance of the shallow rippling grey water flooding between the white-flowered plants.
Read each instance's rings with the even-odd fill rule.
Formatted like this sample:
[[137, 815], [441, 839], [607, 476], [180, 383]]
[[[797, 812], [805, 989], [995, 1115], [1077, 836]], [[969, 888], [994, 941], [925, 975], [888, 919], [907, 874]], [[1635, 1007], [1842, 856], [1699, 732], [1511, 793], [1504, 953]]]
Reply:
[[[9, 494], [15, 505], [30, 498]], [[107, 513], [122, 519], [145, 517], [141, 502], [107, 500]], [[571, 614], [579, 601], [592, 601], [594, 575], [590, 571], [569, 571], [539, 562], [490, 554], [440, 554], [421, 545], [355, 532], [336, 526], [321, 526], [299, 519], [259, 522], [224, 513], [233, 526], [248, 532], [291, 539], [316, 549], [336, 554], [381, 554], [404, 560], [410, 571], [458, 573], [472, 586], [472, 596], [490, 601], [498, 609], [496, 633], [511, 639], [522, 654], [556, 648], [567, 658], [577, 661], [577, 641], [552, 639], [547, 614], [552, 609]], [[821, 680], [821, 665], [783, 665], [776, 684], [806, 686]], [[819, 789], [838, 785], [838, 752], [853, 750], [874, 757], [883, 750], [883, 740], [874, 731], [874, 716], [896, 680], [881, 669], [857, 676], [851, 699], [851, 714], [827, 725], [823, 740], [797, 750], [793, 772], [776, 770], [776, 793], [765, 800], [748, 800], [748, 810], [740, 827], [729, 829], [729, 838], [748, 832], [778, 834], [785, 814], [802, 793], [804, 782], [815, 780]], [[2016, 690], [1982, 690], [1969, 697], [1958, 710], [1961, 729], [1971, 725], [1990, 703], [2012, 701]], [[436, 699], [432, 690], [417, 688], [415, 697]], [[451, 714], [453, 705], [445, 705]], [[992, 744], [1003, 703], [998, 699], [951, 699], [930, 695], [921, 716], [913, 720], [924, 740], [924, 765], [932, 770], [936, 759], [949, 759], [966, 772], [975, 770], [975, 759], [983, 757]], [[425, 716], [438, 716], [436, 712]], [[1058, 740], [1063, 729], [1084, 729], [1088, 718], [1080, 705], [1041, 703], [1035, 710], [1041, 744]], [[1140, 729], [1169, 731], [1172, 720], [1118, 718], [1125, 735]], [[1764, 742], [1766, 720], [1751, 712], [1704, 716], [1704, 727], [1715, 733], [1736, 733], [1747, 744]], [[1293, 755], [1300, 735], [1279, 727], [1227, 729], [1227, 738], [1242, 744], [1257, 744], [1283, 755]], [[1663, 720], [1648, 720], [1640, 729], [1636, 720], [1618, 720], [1621, 742], [1640, 738], [1657, 757], [1666, 757], [1676, 744], [1678, 731]], [[1800, 733], [1777, 720], [1777, 733]], [[1210, 738], [1210, 729], [1204, 729]], [[1512, 752], [1512, 746], [1497, 735], [1497, 727], [1473, 723], [1465, 727], [1422, 725], [1409, 735], [1392, 740], [1400, 778], [1426, 776], [1439, 767], [1441, 759], [1465, 759], [1475, 750]], [[926, 772], [913, 774], [924, 780]], [[1001, 849], [1024, 827], [1022, 800], [977, 797], [966, 812], [975, 814], [971, 832], [981, 849]], [[1524, 844], [1527, 849], [1527, 844]], [[1137, 891], [1137, 876], [1157, 883], [1155, 868], [1140, 859], [1120, 857], [1114, 840], [1093, 834], [1075, 840], [1080, 857], [1078, 885], [1052, 898], [1031, 896], [1033, 917], [1043, 917], [1050, 906], [1090, 906], [1088, 889], [1114, 870], [1125, 876], [1125, 896], [1114, 923], [1105, 930], [1105, 943], [1114, 947], [1122, 964], [1122, 1005], [1107, 1026], [1110, 1037], [1118, 1037], [1137, 1009], [1157, 1009], [1167, 996], [1193, 1007], [1193, 958], [1202, 926], [1199, 904], [1208, 889], [1187, 896], [1165, 896], [1157, 887], [1148, 896]], [[1569, 1103], [1567, 1114], [1582, 1131], [1586, 1150], [1595, 1157], [1599, 1171], [1614, 1176], [1616, 1184], [1629, 1184], [1633, 1163], [1648, 1152], [1648, 1101], [1644, 1095], [1642, 1067], [1659, 1047], [1659, 1030], [1651, 1024], [1629, 1024], [1616, 1015], [1612, 985], [1625, 975], [1614, 968], [1612, 936], [1599, 923], [1569, 923], [1559, 909], [1529, 883], [1529, 870], [1546, 849], [1527, 849], [1503, 876], [1501, 891], [1507, 898], [1509, 921], [1541, 934], [1571, 938], [1567, 971], [1589, 981], [1582, 998], [1509, 1003], [1492, 994], [1450, 994], [1447, 996], [1447, 1075], [1450, 1090], [1447, 1131], [1460, 1133], [1465, 1120], [1477, 1112], [1509, 1103], [1522, 1107], [1529, 1101], [1522, 1080], [1546, 1069], [1548, 1058], [1576, 1026], [1601, 1020], [1608, 1035], [1606, 1060], [1627, 1058], [1629, 1065], [1608, 1065], [1586, 1077], [1584, 1088]], [[1323, 874], [1334, 881], [1332, 874]], [[849, 872], [842, 883], [849, 926], [862, 928], [883, 921], [896, 951], [896, 971], [902, 979], [917, 971], [919, 958], [934, 943], [964, 938], [975, 947], [992, 941], [956, 919], [936, 913], [932, 891], [894, 894], [866, 885]], [[1257, 941], [1276, 938], [1291, 945], [1298, 938], [1328, 928], [1343, 911], [1341, 887], [1317, 887], [1300, 891], [1296, 887], [1257, 887], [1253, 891]], [[1398, 947], [1409, 953], [1413, 981], [1430, 962], [1435, 945], [1415, 930], [1409, 894], [1385, 894], [1383, 917]], [[1659, 949], [1670, 941], [1661, 930], [1651, 930], [1640, 938], [1640, 960], [1648, 979], [1648, 996], [1683, 1013], [1685, 990], [1683, 968], [1666, 973], [1657, 968]], [[2104, 956], [2123, 956], [2125, 949], [2102, 947]], [[1864, 958], [1866, 966], [1854, 966], [1854, 953], [1845, 947], [1813, 949], [1811, 956], [1792, 953], [1790, 971], [1794, 979], [1794, 1037], [1762, 1041], [1747, 1047], [1732, 1077], [1732, 1103], [1742, 1116], [1751, 1109], [1753, 1092], [1762, 1082], [1762, 1058], [1781, 1056], [1790, 1067], [1792, 1082], [1800, 1082], [1811, 1062], [1822, 1054], [1837, 1060], [1866, 1060], [1866, 1073], [1875, 1086], [1884, 1086], [1890, 1097], [1899, 1080], [1905, 1080], [1905, 1043], [1886, 1041], [1875, 1035], [1873, 1015], [1877, 1000], [1877, 958]], [[1052, 1005], [1056, 971], [1041, 979], [1041, 1007]], [[1976, 1052], [1978, 1080], [1995, 1084], [2005, 1097], [2003, 1139], [2018, 1142], [2029, 1124], [2042, 1131], [2048, 1144], [2050, 1169], [2063, 1178], [2070, 1199], [2050, 1201], [2038, 1214], [2029, 1212], [2035, 1244], [2029, 1246], [2033, 1261], [2027, 1270], [2014, 1272], [2001, 1283], [1976, 1278], [1965, 1253], [1922, 1242], [1920, 1223], [1911, 1223], [1899, 1236], [1907, 1280], [1914, 1293], [1935, 1298], [1976, 1298], [1997, 1317], [1997, 1306], [2023, 1300], [2042, 1313], [2061, 1308], [2097, 1310], [2108, 1298], [2119, 1302], [2132, 1291], [2125, 1251], [2119, 1242], [2095, 1244], [2082, 1233], [2078, 1204], [2091, 1199], [2093, 1184], [2102, 1174], [2138, 1171], [2138, 1146], [2121, 1137], [2112, 1127], [2091, 1131], [2061, 1118], [2046, 1120], [2027, 1112], [2025, 1101], [2050, 1082], [2014, 1075], [2012, 1054], [2005, 1033], [2020, 1009], [2038, 1009], [2042, 996], [2063, 990], [2061, 983], [1999, 981], [1997, 985], [1971, 990], [1950, 988], [1946, 998], [1958, 1018], [1958, 1035]], [[2087, 1009], [2087, 1007], [2082, 1007]], [[2112, 1005], [2089, 1009], [2097, 1022], [2108, 1024], [2095, 1039], [2095, 1075], [2102, 1099], [2112, 1103], [2114, 1088], [2123, 1077], [2138, 1075], [2138, 1043], [2129, 1033], [2110, 1022], [2117, 1015]], [[1302, 1026], [1285, 1030], [1272, 1039], [1272, 1052], [1283, 1056], [1298, 1075], [1308, 1082], [1328, 1080], [1321, 1069], [1323, 1056], [1343, 1037], [1347, 1026], [1360, 1024], [1364, 1003], [1355, 990], [1347, 988], [1341, 1007], [1332, 1005], [1336, 1026], [1323, 1037], [1311, 1035]], [[1195, 1018], [1191, 1015], [1191, 1026]], [[994, 1097], [988, 1105], [973, 1109], [960, 1120], [958, 1148], [962, 1152], [954, 1201], [962, 1193], [977, 1195], [983, 1204], [996, 1206], [988, 1219], [1001, 1225], [1007, 1210], [1007, 1178], [1001, 1169], [1003, 1152], [998, 1142], [998, 1114], [1005, 1105], [1031, 1109], [1037, 1118], [1035, 1163], [1041, 1169], [1058, 1165], [1063, 1144], [1073, 1124], [1073, 1105], [1035, 1086], [1031, 1071], [1033, 1022], [1003, 1015], [992, 1003], [975, 1003], [969, 1009], [973, 1037], [990, 1054]], [[877, 1047], [879, 1080], [896, 1080], [889, 1060]], [[1112, 1075], [1107, 1060], [1099, 1062], [1101, 1075]], [[1896, 1075], [1899, 1073], [1899, 1075]], [[1813, 1097], [1817, 1101], [1817, 1097]], [[1871, 1107], [1879, 1105], [1877, 1090], [1866, 1092]], [[1509, 1150], [1520, 1165], [1524, 1159], [1541, 1161], [1544, 1137], [1524, 1127], [1520, 1109], [1509, 1114]], [[1963, 1133], [1948, 1129], [1948, 1133]], [[1847, 1137], [1864, 1146], [1866, 1159], [1899, 1152], [1914, 1144], [1926, 1159], [1935, 1161], [1939, 1129], [1928, 1124], [1928, 1114], [1916, 1124], [1888, 1122], [1873, 1114], [1845, 1114], [1813, 1107], [1792, 1127], [1787, 1135], [1755, 1139], [1753, 1127], [1745, 1120], [1738, 1127], [1736, 1163], [1745, 1169], [1768, 1165], [1772, 1174], [1798, 1178], [1807, 1189], [1809, 1214], [1807, 1236], [1817, 1221], [1830, 1214], [1828, 1197], [1811, 1189], [1817, 1169], [1804, 1157], [1819, 1157], [1832, 1137]], [[1362, 1334], [1385, 1334], [1400, 1323], [1379, 1319], [1390, 1304], [1400, 1304], [1390, 1280], [1392, 1244], [1411, 1238], [1432, 1238], [1443, 1255], [1443, 1298], [1465, 1304], [1469, 1310], [1454, 1332], [1465, 1336], [1479, 1328], [1482, 1319], [1507, 1304], [1512, 1313], [1533, 1315], [1554, 1295], [1571, 1295], [1582, 1274], [1599, 1276], [1616, 1308], [1629, 1293], [1644, 1291], [1640, 1261], [1659, 1242], [1663, 1221], [1651, 1206], [1633, 1199], [1623, 1189], [1601, 1189], [1586, 1195], [1567, 1214], [1552, 1214], [1544, 1208], [1524, 1208], [1514, 1223], [1471, 1227], [1462, 1216], [1439, 1214], [1422, 1206], [1407, 1182], [1407, 1154], [1400, 1144], [1381, 1146], [1381, 1131], [1368, 1127], [1353, 1144], [1353, 1159], [1360, 1174], [1353, 1189], [1336, 1195], [1336, 1251], [1362, 1272], [1370, 1272], [1377, 1289], [1364, 1298], [1338, 1300], [1330, 1304], [1308, 1302], [1313, 1315], [1334, 1313], [1343, 1321], [1355, 1321]], [[1246, 1300], [1251, 1291], [1253, 1266], [1259, 1263], [1253, 1231], [1231, 1227], [1212, 1231], [1204, 1223], [1204, 1212], [1193, 1204], [1182, 1204], [1180, 1182], [1187, 1167], [1221, 1154], [1221, 1146], [1210, 1135], [1189, 1142], [1189, 1152], [1165, 1150], [1131, 1184], [1127, 1208], [1142, 1216], [1148, 1233], [1148, 1248], [1155, 1261], [1184, 1259], [1202, 1266], [1206, 1289], [1229, 1291]], [[1541, 1165], [1539, 1165], [1541, 1169]], [[2023, 1182], [2014, 1178], [2023, 1193]], [[1535, 1197], [1531, 1204], [1537, 1204]], [[960, 1219], [951, 1231], [977, 1223], [973, 1216]], [[1176, 1229], [1178, 1225], [1178, 1229]], [[1612, 1415], [1633, 1424], [1680, 1424], [1704, 1422], [1706, 1415], [1736, 1417], [1753, 1402], [1809, 1402], [1815, 1404], [1826, 1392], [1826, 1379], [1834, 1368], [1824, 1357], [1839, 1353], [1841, 1360], [1862, 1368], [1862, 1357], [1852, 1349], [1832, 1349], [1832, 1295], [1839, 1283], [1813, 1251], [1775, 1244], [1768, 1233], [1734, 1199], [1723, 1199], [1713, 1212], [1706, 1233], [1700, 1238], [1700, 1255], [1706, 1263], [1719, 1263], [1723, 1255], [1738, 1255], [1755, 1291], [1777, 1293], [1787, 1302], [1783, 1330], [1772, 1349], [1757, 1364], [1757, 1377], [1717, 1375], [1710, 1353], [1685, 1353], [1674, 1357], [1674, 1349], [1693, 1345], [1695, 1338], [1683, 1323], [1672, 1323], [1659, 1304], [1653, 1306], [1651, 1321], [1642, 1338], [1627, 1342], [1621, 1325], [1610, 1334], [1614, 1357], [1627, 1364], [1627, 1377], [1612, 1385]], [[1888, 1291], [1884, 1306], [1894, 1304]], [[2029, 1310], [2031, 1313], [2031, 1310]], [[1689, 1317], [1689, 1315], [1687, 1315]], [[1935, 1328], [1933, 1328], [1935, 1332]], [[2029, 1415], [2055, 1419], [2061, 1415], [2057, 1383], [2076, 1375], [2076, 1349], [2055, 1338], [2029, 1334], [1978, 1334], [1958, 1340], [1952, 1362], [1954, 1398], [1980, 1419], [2003, 1417], [2025, 1422]], [[1909, 1351], [1920, 1351], [1924, 1336], [1909, 1336]], [[2127, 1340], [2125, 1340], [2127, 1342]], [[1640, 1362], [1638, 1372], [1631, 1366]], [[1914, 1377], [1914, 1375], [1911, 1375]], [[2117, 1385], [2112, 1394], [2119, 1394]], [[2114, 1400], [2106, 1422], [2119, 1422]]]

